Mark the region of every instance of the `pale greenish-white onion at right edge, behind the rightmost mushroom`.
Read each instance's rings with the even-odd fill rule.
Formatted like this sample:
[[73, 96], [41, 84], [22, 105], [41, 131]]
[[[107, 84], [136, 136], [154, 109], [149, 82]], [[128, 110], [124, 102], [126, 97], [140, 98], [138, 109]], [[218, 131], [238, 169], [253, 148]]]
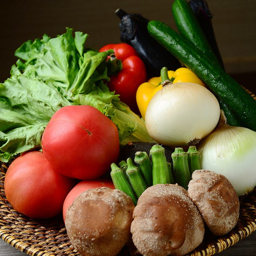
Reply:
[[218, 126], [197, 147], [201, 168], [224, 175], [238, 196], [256, 186], [256, 132], [248, 128]]

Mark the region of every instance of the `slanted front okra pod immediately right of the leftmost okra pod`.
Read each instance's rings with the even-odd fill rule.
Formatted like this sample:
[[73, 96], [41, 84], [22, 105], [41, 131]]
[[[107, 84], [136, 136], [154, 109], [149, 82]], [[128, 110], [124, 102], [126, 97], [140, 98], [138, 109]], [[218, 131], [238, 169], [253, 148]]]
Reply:
[[128, 176], [134, 193], [139, 198], [144, 190], [146, 190], [147, 188], [146, 180], [144, 179], [139, 167], [133, 164], [133, 160], [131, 159], [131, 157], [127, 158], [126, 162], [126, 175]]

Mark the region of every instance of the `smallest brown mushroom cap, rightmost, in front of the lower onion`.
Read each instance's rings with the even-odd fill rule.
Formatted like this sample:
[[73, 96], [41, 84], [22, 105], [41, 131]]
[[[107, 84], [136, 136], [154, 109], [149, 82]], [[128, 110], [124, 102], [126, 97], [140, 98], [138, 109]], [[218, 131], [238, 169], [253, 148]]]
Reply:
[[239, 198], [224, 175], [209, 170], [195, 170], [188, 184], [188, 194], [212, 234], [225, 235], [237, 224]]

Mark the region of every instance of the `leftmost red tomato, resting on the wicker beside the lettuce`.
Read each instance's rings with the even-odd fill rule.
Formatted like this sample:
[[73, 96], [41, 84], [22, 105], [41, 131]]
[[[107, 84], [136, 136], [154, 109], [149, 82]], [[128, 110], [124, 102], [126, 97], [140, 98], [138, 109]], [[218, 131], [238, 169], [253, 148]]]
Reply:
[[5, 175], [5, 195], [13, 208], [31, 218], [45, 219], [62, 212], [75, 180], [54, 171], [40, 151], [17, 157]]

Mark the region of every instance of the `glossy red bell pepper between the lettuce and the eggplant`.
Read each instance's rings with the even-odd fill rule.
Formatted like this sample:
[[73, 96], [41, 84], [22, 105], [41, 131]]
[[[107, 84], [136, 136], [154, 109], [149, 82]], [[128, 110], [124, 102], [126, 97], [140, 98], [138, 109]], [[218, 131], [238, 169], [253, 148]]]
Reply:
[[115, 57], [122, 62], [122, 70], [116, 75], [111, 75], [110, 81], [107, 82], [109, 90], [119, 94], [120, 100], [128, 105], [134, 113], [139, 114], [136, 91], [140, 84], [147, 81], [146, 67], [131, 45], [108, 44], [99, 51], [104, 52], [109, 49], [113, 49]]

